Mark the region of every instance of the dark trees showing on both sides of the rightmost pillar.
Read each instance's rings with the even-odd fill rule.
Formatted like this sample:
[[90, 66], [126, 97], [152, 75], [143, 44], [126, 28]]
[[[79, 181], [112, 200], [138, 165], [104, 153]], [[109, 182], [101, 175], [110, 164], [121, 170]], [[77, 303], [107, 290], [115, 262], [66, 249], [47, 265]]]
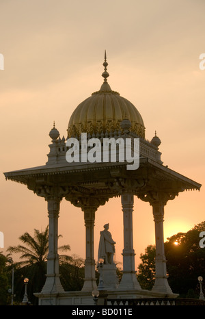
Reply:
[[[165, 242], [169, 285], [181, 297], [198, 298], [197, 277], [205, 279], [205, 247], [200, 247], [201, 231], [205, 231], [205, 222], [195, 225], [187, 233], [177, 233]], [[150, 290], [155, 276], [155, 246], [149, 245], [140, 258], [137, 279], [141, 288]]]

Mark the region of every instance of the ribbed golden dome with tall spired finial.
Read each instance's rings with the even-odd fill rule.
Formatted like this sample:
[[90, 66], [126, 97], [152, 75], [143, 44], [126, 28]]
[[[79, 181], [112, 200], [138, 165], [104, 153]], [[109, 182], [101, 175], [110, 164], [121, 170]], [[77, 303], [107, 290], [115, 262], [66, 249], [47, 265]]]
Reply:
[[102, 73], [104, 83], [99, 91], [81, 102], [70, 116], [68, 138], [80, 136], [81, 133], [114, 133], [120, 131], [120, 123], [125, 118], [131, 121], [131, 131], [141, 138], [145, 137], [143, 119], [136, 107], [118, 92], [111, 90], [107, 83], [107, 61], [105, 53], [105, 71]]

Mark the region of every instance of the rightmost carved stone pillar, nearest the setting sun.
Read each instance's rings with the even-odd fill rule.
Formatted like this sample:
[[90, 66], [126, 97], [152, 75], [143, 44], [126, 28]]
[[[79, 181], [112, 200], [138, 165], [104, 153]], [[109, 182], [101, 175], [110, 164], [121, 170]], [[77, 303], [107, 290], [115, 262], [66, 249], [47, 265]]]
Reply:
[[154, 216], [155, 226], [155, 243], [156, 243], [156, 257], [155, 257], [155, 281], [153, 291], [165, 292], [172, 294], [167, 281], [167, 266], [164, 248], [164, 235], [163, 235], [163, 217], [164, 217], [164, 203], [156, 201], [151, 204]]

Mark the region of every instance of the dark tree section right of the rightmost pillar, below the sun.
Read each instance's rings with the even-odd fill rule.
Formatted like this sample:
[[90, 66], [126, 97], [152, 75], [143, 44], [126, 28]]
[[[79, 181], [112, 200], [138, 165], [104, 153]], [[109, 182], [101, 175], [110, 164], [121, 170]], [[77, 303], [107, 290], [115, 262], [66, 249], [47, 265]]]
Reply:
[[197, 277], [205, 279], [205, 248], [200, 247], [200, 232], [204, 230], [205, 222], [201, 222], [187, 233], [177, 233], [165, 242], [169, 285], [181, 296], [187, 296], [190, 291], [198, 296]]

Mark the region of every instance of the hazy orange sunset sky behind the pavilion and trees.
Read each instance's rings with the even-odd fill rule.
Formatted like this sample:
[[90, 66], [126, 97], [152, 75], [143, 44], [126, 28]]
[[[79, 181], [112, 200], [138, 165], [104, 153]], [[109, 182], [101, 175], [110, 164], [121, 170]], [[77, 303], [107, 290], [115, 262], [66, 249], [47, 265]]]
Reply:
[[[164, 165], [202, 184], [200, 192], [167, 203], [165, 240], [205, 220], [204, 14], [204, 0], [1, 0], [0, 251], [49, 221], [44, 199], [5, 181], [3, 173], [46, 163], [53, 120], [66, 137], [74, 109], [100, 89], [105, 49], [112, 90], [137, 107], [148, 140], [156, 130]], [[107, 222], [122, 261], [120, 199], [96, 212], [95, 257]], [[70, 254], [85, 257], [83, 212], [65, 200], [59, 234], [59, 245], [70, 244]], [[140, 253], [154, 244], [152, 207], [137, 198], [133, 238], [137, 268]]]

